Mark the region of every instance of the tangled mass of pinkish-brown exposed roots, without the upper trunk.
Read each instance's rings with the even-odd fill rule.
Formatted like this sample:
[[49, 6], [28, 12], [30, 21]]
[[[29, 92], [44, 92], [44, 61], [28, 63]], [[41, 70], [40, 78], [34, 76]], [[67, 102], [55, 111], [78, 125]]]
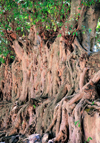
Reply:
[[[52, 142], [81, 143], [84, 110], [100, 110], [99, 92], [96, 90], [100, 65], [96, 61], [99, 72], [89, 81], [86, 79], [88, 52], [77, 38], [66, 37], [67, 43], [72, 38], [70, 45], [66, 43], [69, 47], [59, 38], [51, 46], [50, 42], [40, 44], [41, 39], [37, 45], [34, 28], [31, 27], [28, 39], [12, 40], [18, 58], [12, 64], [12, 77], [7, 77], [9, 70], [5, 66], [4, 77], [7, 80], [0, 79], [2, 100], [8, 99], [6, 87], [9, 87], [12, 89], [12, 101], [17, 99], [19, 103], [10, 109], [12, 128], [8, 135], [36, 132], [43, 135], [46, 132], [53, 134]], [[0, 110], [2, 107], [0, 105]], [[7, 120], [0, 122], [4, 129], [8, 126]]]

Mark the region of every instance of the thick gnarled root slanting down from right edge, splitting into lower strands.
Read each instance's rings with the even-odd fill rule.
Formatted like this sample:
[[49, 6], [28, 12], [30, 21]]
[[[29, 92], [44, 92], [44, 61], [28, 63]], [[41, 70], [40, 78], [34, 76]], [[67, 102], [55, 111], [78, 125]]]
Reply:
[[96, 90], [96, 84], [99, 80], [100, 71], [78, 93], [74, 94], [74, 96], [66, 96], [58, 103], [56, 116], [47, 130], [50, 131], [56, 123], [56, 137], [52, 139], [53, 143], [83, 142], [82, 122], [84, 109], [94, 108], [100, 110], [100, 102], [96, 100], [99, 98]]

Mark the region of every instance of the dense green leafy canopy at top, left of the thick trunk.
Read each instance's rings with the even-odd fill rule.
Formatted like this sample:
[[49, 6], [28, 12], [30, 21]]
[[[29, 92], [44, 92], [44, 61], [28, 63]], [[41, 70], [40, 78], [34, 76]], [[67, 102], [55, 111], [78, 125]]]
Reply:
[[[68, 5], [68, 6], [67, 6]], [[6, 29], [12, 28], [10, 23], [14, 21], [16, 30], [20, 30], [24, 26], [25, 30], [29, 29], [29, 26], [42, 22], [43, 26], [48, 28], [54, 28], [62, 26], [62, 15], [67, 16], [67, 12], [70, 9], [70, 0], [48, 0], [48, 1], [32, 1], [32, 0], [1, 0], [1, 14], [3, 27]], [[7, 18], [5, 18], [5, 13]], [[12, 14], [13, 13], [13, 14]], [[59, 15], [61, 19], [58, 19]]]

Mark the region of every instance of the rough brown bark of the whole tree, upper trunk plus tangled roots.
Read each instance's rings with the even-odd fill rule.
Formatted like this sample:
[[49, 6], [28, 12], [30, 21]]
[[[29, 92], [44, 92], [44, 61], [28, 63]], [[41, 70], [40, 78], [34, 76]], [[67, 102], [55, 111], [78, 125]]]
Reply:
[[[82, 143], [91, 137], [99, 143], [100, 53], [91, 53], [99, 10], [80, 7], [77, 37], [63, 33], [45, 44], [32, 26], [28, 39], [13, 40], [16, 58], [11, 67], [0, 68], [0, 129], [7, 135], [44, 134], [43, 143]], [[95, 129], [88, 123], [93, 120]]]

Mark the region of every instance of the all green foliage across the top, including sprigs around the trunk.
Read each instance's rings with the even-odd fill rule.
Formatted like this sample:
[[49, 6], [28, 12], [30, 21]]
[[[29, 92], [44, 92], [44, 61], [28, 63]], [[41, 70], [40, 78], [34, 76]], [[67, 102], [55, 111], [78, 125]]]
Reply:
[[[82, 0], [81, 4], [91, 6], [95, 2], [100, 2], [100, 0]], [[71, 0], [0, 0], [0, 55], [7, 56], [11, 52], [8, 47], [9, 43], [4, 37], [4, 29], [13, 30], [18, 35], [20, 33], [21, 36], [27, 36], [33, 24], [38, 27], [42, 26], [46, 30], [56, 31], [62, 27], [64, 20], [67, 21], [70, 8]], [[81, 7], [78, 9], [81, 10]], [[78, 20], [79, 16], [80, 13], [77, 14], [76, 20]], [[72, 18], [71, 20], [74, 19]], [[71, 34], [72, 29], [73, 27], [70, 27], [68, 35]], [[99, 29], [100, 22], [97, 26], [98, 31]], [[89, 33], [91, 31], [89, 29]], [[83, 34], [85, 34], [85, 31], [83, 31]], [[73, 31], [73, 35], [78, 36], [76, 29]], [[58, 37], [61, 37], [61, 35]], [[0, 61], [4, 62], [3, 59]]]

